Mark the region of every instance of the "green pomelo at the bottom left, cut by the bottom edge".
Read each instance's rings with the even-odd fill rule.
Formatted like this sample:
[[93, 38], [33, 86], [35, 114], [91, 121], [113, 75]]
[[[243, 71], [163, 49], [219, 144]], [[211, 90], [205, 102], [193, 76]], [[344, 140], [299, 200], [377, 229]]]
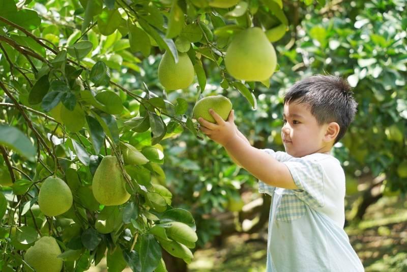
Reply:
[[63, 260], [57, 256], [61, 253], [55, 238], [43, 236], [27, 250], [24, 260], [37, 272], [60, 272]]

